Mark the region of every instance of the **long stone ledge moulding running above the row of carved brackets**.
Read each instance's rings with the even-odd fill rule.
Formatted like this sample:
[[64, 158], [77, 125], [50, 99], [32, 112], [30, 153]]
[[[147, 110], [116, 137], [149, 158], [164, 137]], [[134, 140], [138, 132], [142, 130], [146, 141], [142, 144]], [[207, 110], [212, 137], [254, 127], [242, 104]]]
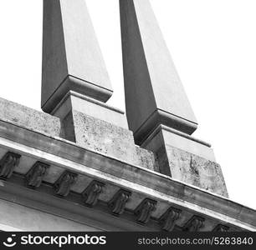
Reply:
[[[207, 218], [215, 218], [218, 221], [231, 223], [235, 227], [255, 230], [255, 211], [226, 198], [174, 181], [146, 168], [122, 163], [115, 158], [79, 148], [74, 143], [59, 138], [49, 138], [10, 123], [0, 122], [0, 134], [3, 137], [0, 139], [0, 144], [7, 150], [9, 148], [29, 158], [44, 160], [46, 163], [59, 166], [59, 169], [67, 169], [90, 178], [95, 176], [101, 181], [112, 183], [111, 185], [129, 188], [133, 193], [144, 193], [147, 197], [160, 201], [160, 204], [176, 204], [193, 213], [204, 214]], [[25, 166], [29, 167], [28, 164]], [[51, 181], [54, 182], [59, 177], [59, 171], [49, 176], [51, 178], [56, 176]], [[159, 218], [164, 210], [166, 207], [161, 205], [152, 216]]]

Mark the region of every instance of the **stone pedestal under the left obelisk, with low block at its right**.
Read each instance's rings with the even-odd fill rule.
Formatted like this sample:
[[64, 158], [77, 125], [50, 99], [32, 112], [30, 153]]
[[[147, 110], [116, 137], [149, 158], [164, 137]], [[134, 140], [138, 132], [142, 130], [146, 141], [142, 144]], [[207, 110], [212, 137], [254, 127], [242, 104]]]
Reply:
[[59, 117], [63, 137], [125, 163], [156, 170], [155, 156], [136, 146], [124, 112], [69, 91], [52, 115]]

